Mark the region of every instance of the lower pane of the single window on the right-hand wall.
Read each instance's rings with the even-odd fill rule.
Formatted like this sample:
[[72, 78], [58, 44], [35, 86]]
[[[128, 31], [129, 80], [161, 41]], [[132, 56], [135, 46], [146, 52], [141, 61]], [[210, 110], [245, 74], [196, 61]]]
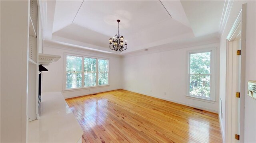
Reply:
[[210, 75], [190, 75], [189, 94], [210, 98]]

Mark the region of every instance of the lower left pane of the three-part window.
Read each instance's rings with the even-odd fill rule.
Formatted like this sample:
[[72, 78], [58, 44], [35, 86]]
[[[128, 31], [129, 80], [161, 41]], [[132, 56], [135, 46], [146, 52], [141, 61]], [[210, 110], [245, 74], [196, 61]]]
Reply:
[[66, 88], [82, 87], [82, 73], [81, 72], [67, 72]]

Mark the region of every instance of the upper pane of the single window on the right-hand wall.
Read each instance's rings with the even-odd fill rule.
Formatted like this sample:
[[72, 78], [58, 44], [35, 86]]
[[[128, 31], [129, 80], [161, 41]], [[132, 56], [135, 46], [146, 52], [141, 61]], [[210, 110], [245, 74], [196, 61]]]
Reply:
[[190, 54], [191, 74], [210, 74], [211, 52]]

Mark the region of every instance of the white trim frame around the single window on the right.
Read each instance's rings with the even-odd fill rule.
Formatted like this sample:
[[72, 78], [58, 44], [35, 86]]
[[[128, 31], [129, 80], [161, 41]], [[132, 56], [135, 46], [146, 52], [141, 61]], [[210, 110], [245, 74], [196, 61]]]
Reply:
[[[190, 54], [193, 53], [203, 53], [203, 52], [211, 52], [211, 72], [210, 72], [210, 98], [204, 98], [201, 96], [194, 96], [194, 95], [190, 95], [189, 94], [189, 90], [190, 90]], [[215, 100], [215, 85], [216, 85], [216, 74], [215, 74], [215, 69], [216, 69], [216, 47], [210, 47], [210, 48], [204, 48], [204, 49], [196, 49], [196, 50], [192, 50], [192, 51], [188, 51], [187, 53], [187, 92], [185, 97], [186, 98], [190, 98], [190, 99], [194, 99], [194, 100], [200, 100], [200, 101], [204, 101], [204, 102], [210, 102], [210, 103], [214, 103], [216, 102]]]

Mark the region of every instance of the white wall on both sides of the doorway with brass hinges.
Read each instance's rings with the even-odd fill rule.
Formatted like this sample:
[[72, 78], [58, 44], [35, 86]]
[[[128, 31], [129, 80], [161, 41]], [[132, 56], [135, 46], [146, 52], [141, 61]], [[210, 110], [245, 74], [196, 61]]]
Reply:
[[[222, 99], [222, 113], [225, 113], [225, 84], [226, 84], [226, 37], [232, 27], [238, 13], [242, 8], [242, 4], [247, 3], [247, 20], [246, 20], [246, 89], [248, 80], [256, 80], [256, 11], [255, 1], [234, 1], [230, 16], [222, 37], [220, 39], [220, 98]], [[245, 111], [244, 111], [244, 133], [240, 133], [240, 142], [255, 143], [256, 142], [256, 100], [247, 96], [245, 93]], [[222, 129], [225, 130], [225, 114], [220, 119]], [[224, 135], [224, 133], [222, 133]]]

